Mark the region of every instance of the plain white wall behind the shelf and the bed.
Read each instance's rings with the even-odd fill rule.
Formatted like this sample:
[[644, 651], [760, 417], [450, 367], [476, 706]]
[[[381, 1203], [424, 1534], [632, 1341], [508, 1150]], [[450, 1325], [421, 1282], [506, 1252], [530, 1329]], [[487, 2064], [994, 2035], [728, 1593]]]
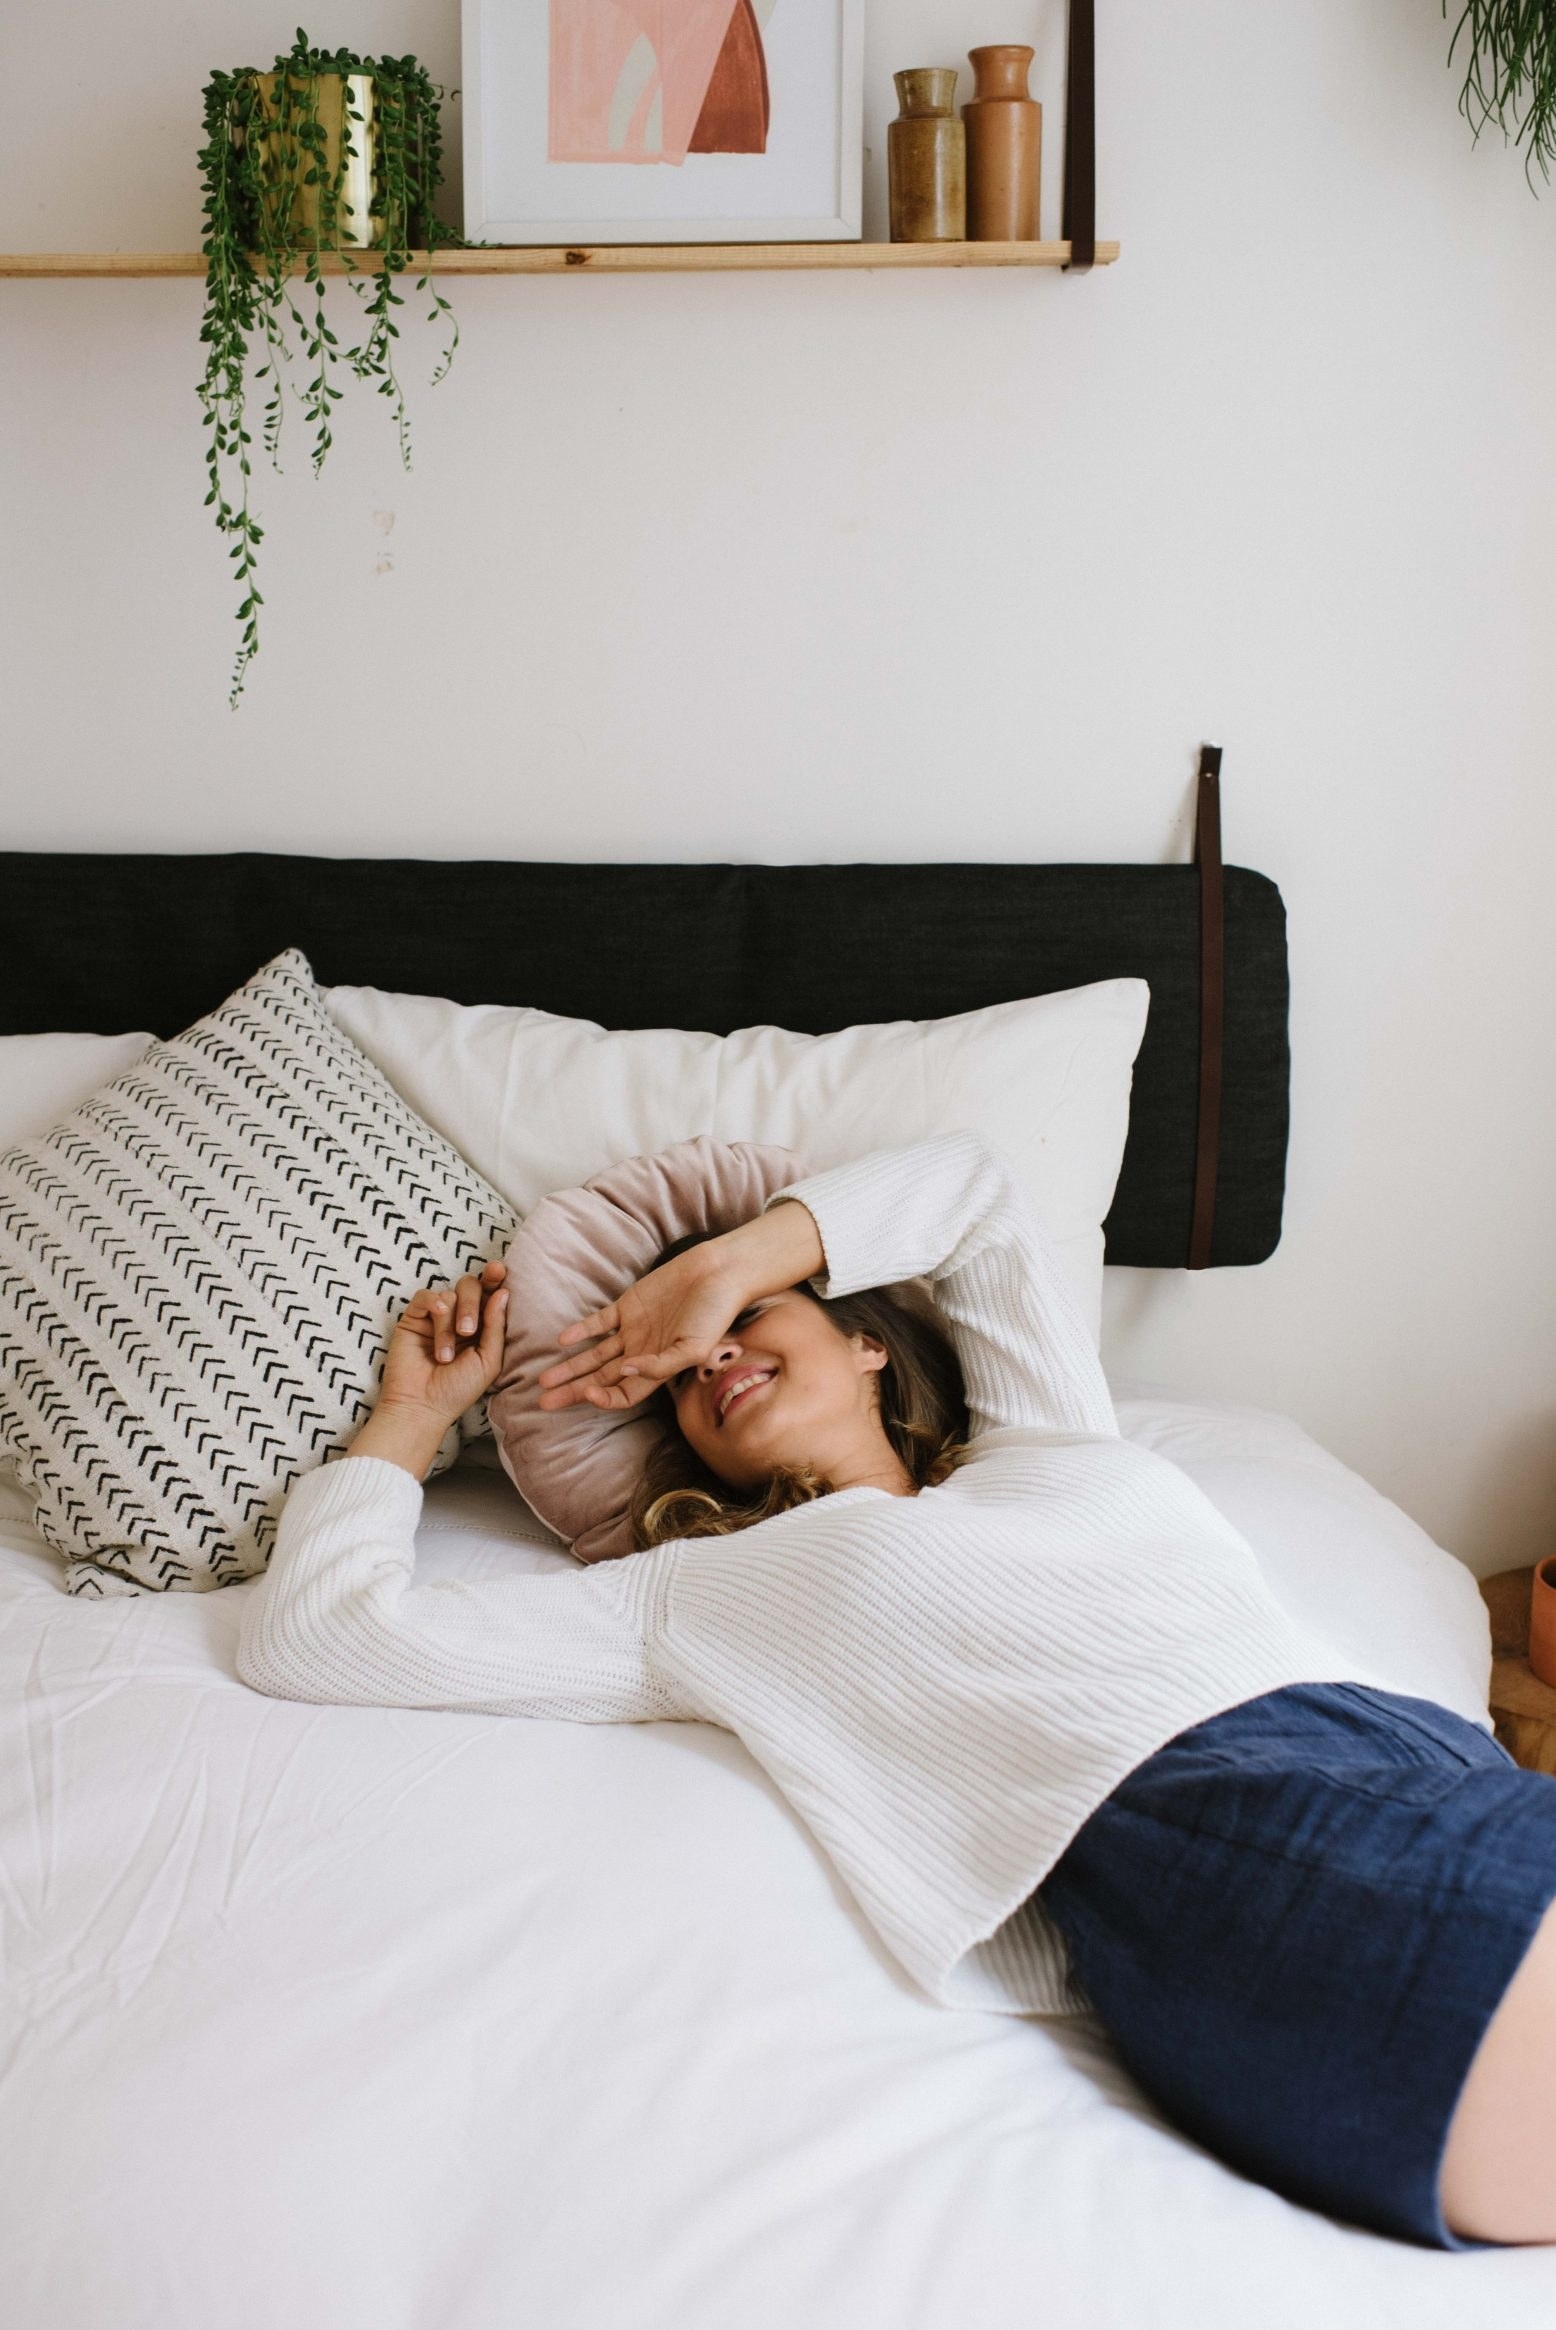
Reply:
[[[238, 715], [200, 287], [0, 284], [2, 841], [1158, 860], [1218, 736], [1230, 855], [1290, 909], [1288, 1233], [1263, 1270], [1116, 1272], [1113, 1370], [1286, 1407], [1477, 1568], [1528, 1561], [1556, 193], [1470, 147], [1435, 0], [1099, 16], [1118, 268], [461, 284], [410, 475], [363, 398], [321, 485], [296, 424], [261, 478]], [[198, 89], [293, 23], [33, 0], [0, 245], [191, 249]], [[454, 0], [310, 28], [457, 79]], [[890, 70], [1037, 40], [1053, 177], [1060, 35], [1060, 0], [871, 0], [867, 231]]]

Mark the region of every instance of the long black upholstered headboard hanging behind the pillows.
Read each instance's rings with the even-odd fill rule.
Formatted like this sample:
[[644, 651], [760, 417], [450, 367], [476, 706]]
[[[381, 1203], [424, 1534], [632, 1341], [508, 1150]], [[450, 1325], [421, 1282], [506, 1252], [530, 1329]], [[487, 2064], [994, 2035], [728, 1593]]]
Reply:
[[[627, 867], [0, 853], [0, 1035], [175, 1035], [300, 946], [324, 986], [538, 1004], [608, 1028], [941, 1018], [1151, 983], [1113, 1263], [1181, 1265], [1200, 1097], [1193, 867]], [[1286, 916], [1225, 869], [1225, 1090], [1211, 1263], [1281, 1235]]]

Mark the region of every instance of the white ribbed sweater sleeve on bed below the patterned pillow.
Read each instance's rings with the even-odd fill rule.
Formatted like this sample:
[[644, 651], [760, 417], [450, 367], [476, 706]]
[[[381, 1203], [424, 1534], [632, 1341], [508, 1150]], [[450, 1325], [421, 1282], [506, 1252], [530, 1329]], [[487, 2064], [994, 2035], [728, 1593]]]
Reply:
[[573, 1722], [689, 1713], [652, 1671], [643, 1622], [662, 1566], [412, 1584], [422, 1489], [377, 1456], [310, 1473], [287, 1498], [238, 1673], [273, 1699], [464, 1708]]

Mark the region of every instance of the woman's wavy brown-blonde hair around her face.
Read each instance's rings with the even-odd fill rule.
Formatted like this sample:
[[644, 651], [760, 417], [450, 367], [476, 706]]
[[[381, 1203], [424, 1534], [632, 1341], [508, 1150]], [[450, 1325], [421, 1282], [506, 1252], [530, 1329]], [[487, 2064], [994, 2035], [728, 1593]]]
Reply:
[[[655, 1270], [687, 1247], [699, 1247], [708, 1235], [678, 1237], [655, 1258]], [[967, 1454], [969, 1417], [962, 1365], [929, 1300], [887, 1286], [829, 1298], [811, 1286], [794, 1291], [815, 1302], [839, 1335], [871, 1335], [885, 1347], [885, 1368], [874, 1379], [885, 1438], [915, 1489], [939, 1487]], [[773, 1473], [762, 1489], [743, 1496], [720, 1480], [682, 1435], [669, 1386], [655, 1393], [655, 1403], [669, 1431], [643, 1466], [629, 1508], [634, 1545], [641, 1552], [666, 1538], [727, 1538], [736, 1528], [752, 1528], [776, 1512], [832, 1494], [829, 1480], [801, 1466]]]

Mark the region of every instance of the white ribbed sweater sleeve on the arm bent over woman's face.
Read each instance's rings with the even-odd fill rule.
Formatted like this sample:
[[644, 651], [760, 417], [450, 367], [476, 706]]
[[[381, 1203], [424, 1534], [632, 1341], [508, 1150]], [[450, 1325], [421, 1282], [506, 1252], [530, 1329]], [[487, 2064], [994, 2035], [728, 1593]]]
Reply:
[[974, 1132], [880, 1149], [780, 1191], [813, 1214], [822, 1295], [927, 1277], [974, 1433], [1118, 1433], [1102, 1361], [1025, 1193]]

